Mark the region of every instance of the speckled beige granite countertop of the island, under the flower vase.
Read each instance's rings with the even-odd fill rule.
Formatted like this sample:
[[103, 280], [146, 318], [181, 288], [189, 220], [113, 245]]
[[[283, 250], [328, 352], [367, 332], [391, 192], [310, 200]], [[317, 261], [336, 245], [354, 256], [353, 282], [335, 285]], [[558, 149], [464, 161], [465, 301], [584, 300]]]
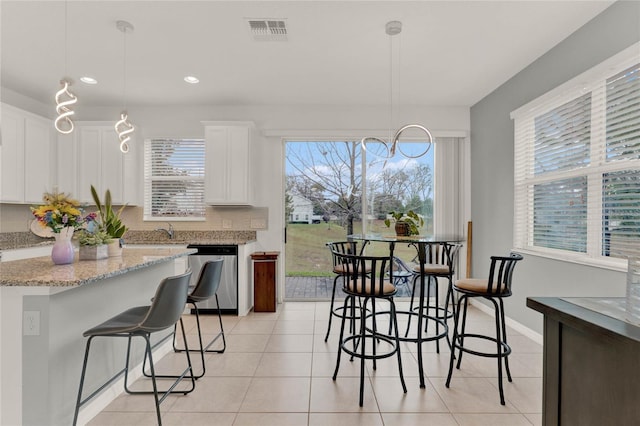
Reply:
[[185, 248], [123, 249], [122, 256], [54, 265], [49, 256], [0, 263], [0, 286], [77, 287], [195, 253]]

